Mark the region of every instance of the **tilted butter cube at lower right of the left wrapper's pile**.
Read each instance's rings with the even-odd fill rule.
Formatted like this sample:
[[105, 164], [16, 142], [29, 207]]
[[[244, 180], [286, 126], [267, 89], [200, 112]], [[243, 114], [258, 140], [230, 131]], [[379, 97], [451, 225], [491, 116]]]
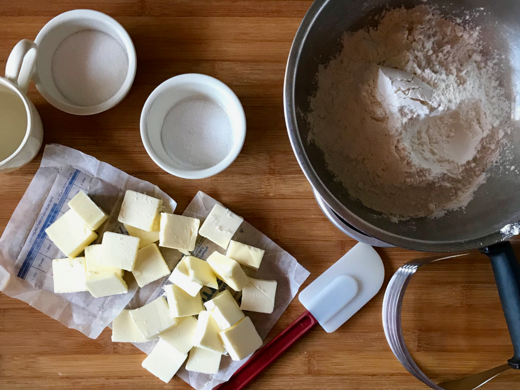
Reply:
[[148, 283], [170, 274], [170, 268], [164, 261], [157, 244], [139, 249], [132, 274], [139, 287], [145, 287]]

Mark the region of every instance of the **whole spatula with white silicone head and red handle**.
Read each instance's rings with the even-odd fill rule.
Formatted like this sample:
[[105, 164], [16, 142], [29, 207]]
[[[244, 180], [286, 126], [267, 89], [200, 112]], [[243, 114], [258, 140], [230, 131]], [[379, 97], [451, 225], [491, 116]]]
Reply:
[[316, 323], [334, 332], [378, 293], [383, 262], [372, 246], [358, 243], [300, 293], [307, 311], [259, 349], [218, 390], [240, 390]]

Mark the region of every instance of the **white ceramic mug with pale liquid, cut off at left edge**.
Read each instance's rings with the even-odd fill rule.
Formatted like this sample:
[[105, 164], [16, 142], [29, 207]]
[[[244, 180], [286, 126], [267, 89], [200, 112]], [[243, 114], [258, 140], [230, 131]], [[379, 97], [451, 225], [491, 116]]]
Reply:
[[0, 77], [0, 173], [27, 164], [42, 146], [42, 119], [27, 97], [37, 54], [34, 42], [18, 42]]

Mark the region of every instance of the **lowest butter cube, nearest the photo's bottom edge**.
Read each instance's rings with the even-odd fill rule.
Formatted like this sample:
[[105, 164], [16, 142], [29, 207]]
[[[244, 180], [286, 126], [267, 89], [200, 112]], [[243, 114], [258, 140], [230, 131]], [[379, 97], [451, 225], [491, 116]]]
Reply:
[[170, 344], [159, 340], [141, 366], [157, 376], [161, 381], [168, 383], [187, 357], [187, 354], [181, 354]]

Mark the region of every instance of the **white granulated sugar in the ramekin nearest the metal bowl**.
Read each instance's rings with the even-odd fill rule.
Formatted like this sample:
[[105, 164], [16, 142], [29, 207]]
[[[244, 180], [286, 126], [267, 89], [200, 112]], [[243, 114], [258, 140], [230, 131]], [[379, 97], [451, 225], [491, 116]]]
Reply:
[[233, 129], [228, 114], [216, 102], [188, 99], [166, 114], [161, 140], [178, 164], [202, 170], [226, 158], [233, 145]]

